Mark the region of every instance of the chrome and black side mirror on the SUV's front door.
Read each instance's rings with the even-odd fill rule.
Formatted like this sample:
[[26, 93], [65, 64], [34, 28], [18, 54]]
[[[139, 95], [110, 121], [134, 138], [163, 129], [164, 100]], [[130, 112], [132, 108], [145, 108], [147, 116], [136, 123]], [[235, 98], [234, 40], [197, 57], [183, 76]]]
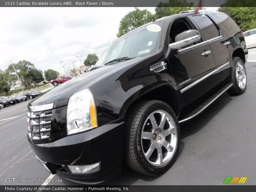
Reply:
[[175, 37], [175, 42], [169, 44], [170, 49], [176, 50], [200, 41], [201, 36], [197, 30], [187, 30]]

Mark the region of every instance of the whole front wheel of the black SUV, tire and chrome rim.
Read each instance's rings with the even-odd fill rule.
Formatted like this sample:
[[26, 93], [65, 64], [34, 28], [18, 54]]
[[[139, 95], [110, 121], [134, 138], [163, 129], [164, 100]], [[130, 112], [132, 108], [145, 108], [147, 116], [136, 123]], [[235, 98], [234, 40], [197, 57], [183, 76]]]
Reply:
[[125, 121], [125, 162], [136, 172], [157, 176], [174, 163], [180, 126], [172, 108], [159, 100], [138, 103]]

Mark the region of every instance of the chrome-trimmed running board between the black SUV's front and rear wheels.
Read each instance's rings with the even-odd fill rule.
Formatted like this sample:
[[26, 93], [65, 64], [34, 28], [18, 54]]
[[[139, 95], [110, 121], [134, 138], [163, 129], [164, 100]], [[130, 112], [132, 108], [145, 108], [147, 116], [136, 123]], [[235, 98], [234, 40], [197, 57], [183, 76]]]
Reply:
[[212, 95], [209, 99], [205, 100], [201, 105], [199, 105], [196, 109], [194, 109], [192, 112], [190, 112], [187, 116], [184, 117], [184, 119], [180, 120], [179, 123], [183, 123], [185, 121], [188, 121], [195, 116], [199, 115], [201, 112], [204, 111], [207, 107], [209, 107], [216, 99], [220, 97], [223, 93], [225, 93], [230, 87], [232, 87], [232, 83], [228, 83], [224, 87], [222, 87], [218, 92], [216, 92], [214, 95]]

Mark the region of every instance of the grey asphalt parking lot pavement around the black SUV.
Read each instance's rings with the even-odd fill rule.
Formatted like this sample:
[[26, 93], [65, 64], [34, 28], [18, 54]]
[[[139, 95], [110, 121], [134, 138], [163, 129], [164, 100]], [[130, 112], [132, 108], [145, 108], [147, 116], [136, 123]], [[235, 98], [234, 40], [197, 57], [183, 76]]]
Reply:
[[[256, 184], [256, 48], [246, 63], [247, 89], [243, 95], [223, 94], [201, 115], [181, 125], [176, 163], [164, 175], [146, 177], [126, 166], [110, 185], [222, 185], [225, 177], [248, 177]], [[26, 106], [30, 100], [0, 109], [0, 185], [57, 183], [5, 182], [5, 178], [60, 179], [50, 175], [28, 145]], [[62, 179], [58, 185], [75, 185]]]

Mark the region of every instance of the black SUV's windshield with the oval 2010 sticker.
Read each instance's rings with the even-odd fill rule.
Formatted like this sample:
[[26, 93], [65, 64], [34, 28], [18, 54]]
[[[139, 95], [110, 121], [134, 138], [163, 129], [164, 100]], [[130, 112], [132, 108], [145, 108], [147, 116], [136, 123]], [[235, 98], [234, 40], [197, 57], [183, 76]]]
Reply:
[[[101, 55], [95, 67], [102, 67], [106, 63], [119, 58], [135, 58], [145, 56], [156, 51], [160, 46], [163, 21], [155, 22], [133, 31], [111, 44]], [[116, 60], [116, 62], [122, 60]], [[113, 63], [116, 63], [113, 62]], [[108, 63], [109, 64], [109, 63]]]

